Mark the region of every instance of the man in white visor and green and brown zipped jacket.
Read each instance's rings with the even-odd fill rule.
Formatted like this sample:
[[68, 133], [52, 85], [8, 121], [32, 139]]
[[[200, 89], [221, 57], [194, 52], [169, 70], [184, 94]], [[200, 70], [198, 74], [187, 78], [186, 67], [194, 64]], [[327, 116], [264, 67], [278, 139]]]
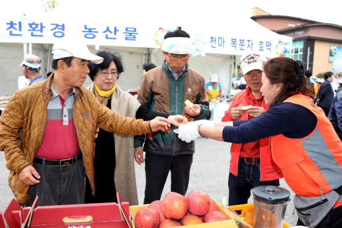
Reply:
[[[189, 120], [204, 119], [209, 114], [209, 101], [203, 76], [189, 68], [190, 54], [195, 50], [190, 36], [180, 29], [165, 35], [162, 44], [164, 62], [151, 69], [141, 81], [138, 101], [150, 110], [181, 114]], [[189, 100], [193, 107], [185, 106]], [[174, 127], [172, 127], [172, 130]], [[135, 140], [134, 153], [143, 159], [144, 140]], [[146, 187], [144, 204], [160, 200], [169, 171], [171, 191], [185, 195], [190, 177], [194, 142], [185, 143], [172, 131], [147, 134], [144, 151]], [[140, 164], [139, 164], [140, 165]]]

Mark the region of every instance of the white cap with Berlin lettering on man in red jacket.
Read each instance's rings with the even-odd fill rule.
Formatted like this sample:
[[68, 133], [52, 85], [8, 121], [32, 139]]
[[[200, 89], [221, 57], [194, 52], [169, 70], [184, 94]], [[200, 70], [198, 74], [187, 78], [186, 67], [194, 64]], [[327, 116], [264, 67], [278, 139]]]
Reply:
[[267, 59], [265, 56], [257, 53], [248, 53], [247, 55], [241, 56], [240, 67], [242, 74], [245, 75], [251, 70], [262, 70], [262, 64], [266, 61]]

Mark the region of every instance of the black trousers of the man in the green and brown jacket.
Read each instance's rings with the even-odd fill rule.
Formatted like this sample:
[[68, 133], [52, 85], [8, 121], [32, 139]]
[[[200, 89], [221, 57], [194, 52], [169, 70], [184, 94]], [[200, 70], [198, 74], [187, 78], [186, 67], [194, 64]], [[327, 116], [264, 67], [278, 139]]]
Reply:
[[192, 155], [168, 156], [146, 153], [146, 187], [144, 204], [160, 200], [171, 171], [171, 191], [185, 195], [189, 185]]

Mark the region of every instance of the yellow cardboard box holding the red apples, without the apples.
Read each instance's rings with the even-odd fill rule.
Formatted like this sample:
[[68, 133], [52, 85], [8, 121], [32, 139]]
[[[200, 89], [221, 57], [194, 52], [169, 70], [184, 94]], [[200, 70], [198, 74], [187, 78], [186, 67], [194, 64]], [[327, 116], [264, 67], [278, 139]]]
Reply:
[[[214, 199], [213, 199], [214, 200]], [[215, 201], [215, 200], [214, 200]], [[224, 206], [222, 204], [219, 204], [215, 201], [217, 205], [217, 210], [222, 212], [227, 220], [225, 221], [219, 221], [219, 222], [213, 222], [213, 223], [203, 223], [203, 224], [197, 224], [197, 225], [190, 225], [190, 226], [183, 226], [183, 227], [189, 227], [189, 228], [238, 228], [235, 220], [234, 215], [230, 213], [229, 211], [224, 209]], [[135, 228], [134, 222], [135, 222], [135, 214], [140, 208], [148, 207], [149, 205], [138, 205], [138, 206], [129, 206], [129, 218], [132, 222], [132, 227]], [[236, 215], [237, 216], [237, 215]], [[238, 217], [238, 216], [237, 216]], [[238, 220], [243, 221], [240, 217], [238, 217]]]

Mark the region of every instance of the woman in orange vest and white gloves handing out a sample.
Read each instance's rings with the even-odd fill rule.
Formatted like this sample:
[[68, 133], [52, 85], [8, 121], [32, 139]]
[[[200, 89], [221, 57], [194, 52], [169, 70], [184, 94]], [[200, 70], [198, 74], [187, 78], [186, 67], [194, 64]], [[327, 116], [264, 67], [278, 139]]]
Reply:
[[[190, 142], [203, 135], [232, 143], [269, 137], [273, 159], [296, 193], [297, 225], [342, 227], [341, 140], [310, 98], [312, 89], [300, 61], [274, 58], [264, 63], [263, 70], [261, 92], [270, 105], [268, 111], [248, 121], [184, 124], [178, 137]], [[302, 199], [310, 204], [299, 207]]]

